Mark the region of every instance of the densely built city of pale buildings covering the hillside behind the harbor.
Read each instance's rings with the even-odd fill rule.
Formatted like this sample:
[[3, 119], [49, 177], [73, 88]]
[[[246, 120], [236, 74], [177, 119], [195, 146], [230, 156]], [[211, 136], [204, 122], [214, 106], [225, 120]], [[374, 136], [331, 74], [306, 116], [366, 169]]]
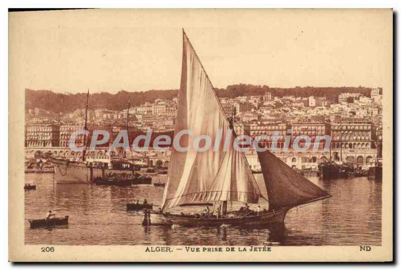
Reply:
[[[381, 152], [382, 140], [382, 95], [379, 88], [371, 89], [370, 96], [362, 93], [345, 92], [338, 95], [337, 102], [323, 97], [277, 97], [266, 91], [264, 95], [239, 96], [235, 98], [220, 98], [221, 104], [228, 115], [235, 120], [235, 130], [238, 134], [250, 134], [252, 138], [261, 135], [278, 135], [275, 147], [281, 150], [275, 153], [282, 160], [293, 162], [325, 162], [328, 155], [333, 154], [333, 160], [368, 166], [376, 161]], [[130, 142], [151, 129], [154, 133], [173, 136], [178, 99], [155, 99], [153, 103], [145, 102], [138, 106], [131, 106], [121, 111], [107, 109], [88, 110], [88, 130], [102, 129], [110, 134], [110, 140], [101, 147], [107, 148], [112, 144], [120, 130], [127, 129]], [[128, 115], [128, 119], [127, 119]], [[35, 108], [26, 111], [25, 147], [27, 153], [36, 149], [58, 149], [57, 155], [72, 155], [69, 150], [71, 134], [76, 130], [84, 129], [85, 108], [69, 113], [54, 113]], [[299, 136], [308, 136], [314, 144], [316, 136], [331, 136], [330, 154], [324, 148], [324, 142], [318, 144], [318, 156], [309, 151], [308, 155], [297, 154], [293, 151], [294, 140]], [[285, 148], [285, 138], [290, 136], [291, 141]], [[86, 138], [88, 140], [88, 138]], [[77, 136], [75, 145], [84, 145], [83, 134]], [[261, 141], [268, 149], [272, 147], [272, 139]], [[299, 143], [302, 146], [302, 142]], [[60, 150], [61, 149], [61, 150]], [[66, 149], [66, 151], [63, 151]], [[293, 151], [299, 156], [298, 161], [292, 158]], [[49, 152], [49, 151], [48, 151]], [[52, 151], [50, 151], [52, 152]], [[290, 155], [286, 155], [290, 153]], [[115, 153], [112, 153], [113, 155]], [[249, 154], [249, 155], [248, 155]], [[248, 153], [255, 157], [255, 153]], [[310, 155], [309, 155], [310, 154]], [[80, 156], [77, 153], [75, 156]], [[121, 152], [120, 154], [121, 155]], [[152, 153], [156, 158], [156, 154]], [[168, 163], [169, 153], [161, 153]], [[305, 157], [306, 156], [306, 157]], [[251, 166], [255, 161], [249, 161]], [[331, 159], [331, 157], [330, 157]], [[143, 159], [142, 159], [143, 160]], [[147, 160], [149, 163], [149, 160]], [[160, 162], [160, 160], [157, 160]], [[150, 161], [152, 163], [152, 161]], [[299, 163], [299, 164], [301, 164]], [[299, 165], [301, 166], [301, 165]]]

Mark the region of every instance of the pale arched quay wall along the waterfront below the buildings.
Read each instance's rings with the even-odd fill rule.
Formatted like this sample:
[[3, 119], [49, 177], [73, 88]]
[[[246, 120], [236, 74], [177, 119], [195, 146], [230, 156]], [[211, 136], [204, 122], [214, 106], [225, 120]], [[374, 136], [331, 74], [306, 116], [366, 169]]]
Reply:
[[[26, 157], [32, 156], [35, 153], [48, 153], [54, 156], [65, 157], [65, 158], [81, 158], [81, 152], [74, 152], [69, 148], [65, 147], [46, 147], [46, 148], [25, 148]], [[109, 153], [108, 147], [99, 147], [94, 151], [88, 152], [88, 155], [110, 155], [119, 157], [123, 155], [123, 149], [116, 149], [112, 153]], [[330, 153], [328, 151], [306, 151], [306, 152], [295, 152], [295, 151], [274, 151], [272, 152], [283, 162], [290, 167], [296, 167], [297, 169], [309, 168], [310, 166], [317, 166], [320, 163], [327, 162], [330, 159]], [[126, 158], [139, 160], [146, 163], [148, 166], [159, 166], [168, 167], [170, 160], [170, 151], [156, 151], [149, 149], [146, 152], [135, 152], [131, 154], [127, 152]], [[258, 155], [256, 151], [248, 151], [245, 153], [248, 163], [252, 169], [258, 169], [260, 167]], [[331, 151], [331, 159], [336, 161], [342, 161], [344, 163], [356, 164], [360, 167], [370, 167], [375, 163], [377, 158], [376, 149], [343, 149], [340, 151]]]

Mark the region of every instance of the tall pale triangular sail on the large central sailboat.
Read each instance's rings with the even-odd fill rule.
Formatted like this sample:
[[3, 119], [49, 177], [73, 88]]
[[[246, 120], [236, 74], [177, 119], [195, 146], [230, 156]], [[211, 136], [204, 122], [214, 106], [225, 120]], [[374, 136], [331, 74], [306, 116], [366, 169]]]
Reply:
[[[174, 138], [185, 151], [172, 148], [162, 209], [184, 203], [241, 201], [257, 203], [261, 193], [244, 153], [233, 149], [234, 136], [212, 83], [183, 33], [181, 85]], [[212, 147], [193, 148], [198, 136], [212, 139]], [[227, 151], [224, 151], [226, 137]], [[216, 144], [217, 143], [217, 144]], [[218, 145], [218, 147], [216, 147]]]

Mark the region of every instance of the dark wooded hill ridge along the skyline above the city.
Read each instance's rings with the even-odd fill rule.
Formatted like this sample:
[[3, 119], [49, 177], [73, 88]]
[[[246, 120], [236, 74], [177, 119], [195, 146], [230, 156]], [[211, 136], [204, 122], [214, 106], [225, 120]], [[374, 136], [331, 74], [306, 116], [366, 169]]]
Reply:
[[[226, 89], [216, 89], [219, 97], [234, 98], [238, 96], [263, 95], [266, 91], [273, 96], [282, 97], [293, 95], [300, 97], [326, 96], [327, 99], [336, 102], [338, 95], [345, 92], [362, 93], [370, 96], [371, 88], [368, 87], [294, 87], [294, 88], [270, 88], [267, 85], [235, 84]], [[123, 110], [127, 107], [128, 100], [131, 106], [154, 102], [157, 98], [172, 99], [176, 97], [178, 90], [149, 90], [144, 92], [119, 91], [116, 94], [106, 92], [93, 93], [89, 96], [90, 109]], [[25, 89], [25, 108], [41, 108], [51, 112], [71, 112], [85, 107], [86, 93], [62, 94], [50, 90]]]

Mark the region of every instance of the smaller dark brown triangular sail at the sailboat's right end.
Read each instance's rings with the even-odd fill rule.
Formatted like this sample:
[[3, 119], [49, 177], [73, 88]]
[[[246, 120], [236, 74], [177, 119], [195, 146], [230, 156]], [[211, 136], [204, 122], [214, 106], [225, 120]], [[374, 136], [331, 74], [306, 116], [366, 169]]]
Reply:
[[331, 196], [268, 150], [258, 152], [258, 157], [269, 197], [269, 209], [296, 206]]

